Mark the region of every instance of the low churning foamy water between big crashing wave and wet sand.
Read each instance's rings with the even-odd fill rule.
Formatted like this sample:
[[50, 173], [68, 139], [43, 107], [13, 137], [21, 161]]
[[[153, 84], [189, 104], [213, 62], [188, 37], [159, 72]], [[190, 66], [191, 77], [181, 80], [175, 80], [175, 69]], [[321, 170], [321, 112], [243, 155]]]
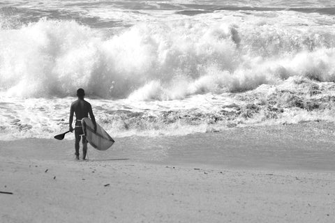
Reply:
[[[184, 100], [90, 99], [97, 122], [113, 137], [219, 132], [255, 125], [311, 121], [334, 125], [335, 84], [289, 77], [244, 93], [207, 93]], [[68, 129], [75, 98], [3, 98], [0, 139], [52, 138]], [[312, 123], [313, 124], [313, 123]]]

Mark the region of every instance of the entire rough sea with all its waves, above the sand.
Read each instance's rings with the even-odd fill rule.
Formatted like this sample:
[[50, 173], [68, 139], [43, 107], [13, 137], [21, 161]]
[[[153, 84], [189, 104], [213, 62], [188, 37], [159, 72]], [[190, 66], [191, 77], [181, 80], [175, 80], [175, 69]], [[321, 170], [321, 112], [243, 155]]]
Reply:
[[3, 1], [0, 139], [334, 122], [332, 1]]

